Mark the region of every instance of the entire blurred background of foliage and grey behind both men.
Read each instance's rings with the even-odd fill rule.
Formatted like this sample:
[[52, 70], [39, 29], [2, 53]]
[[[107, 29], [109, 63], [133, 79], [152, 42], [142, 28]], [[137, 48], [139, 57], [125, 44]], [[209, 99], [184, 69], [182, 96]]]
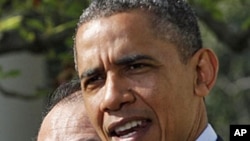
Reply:
[[[229, 140], [230, 124], [250, 124], [250, 1], [188, 0], [204, 46], [218, 55], [206, 98], [209, 121]], [[73, 36], [88, 0], [0, 0], [0, 140], [35, 140], [47, 96], [76, 76]]]

